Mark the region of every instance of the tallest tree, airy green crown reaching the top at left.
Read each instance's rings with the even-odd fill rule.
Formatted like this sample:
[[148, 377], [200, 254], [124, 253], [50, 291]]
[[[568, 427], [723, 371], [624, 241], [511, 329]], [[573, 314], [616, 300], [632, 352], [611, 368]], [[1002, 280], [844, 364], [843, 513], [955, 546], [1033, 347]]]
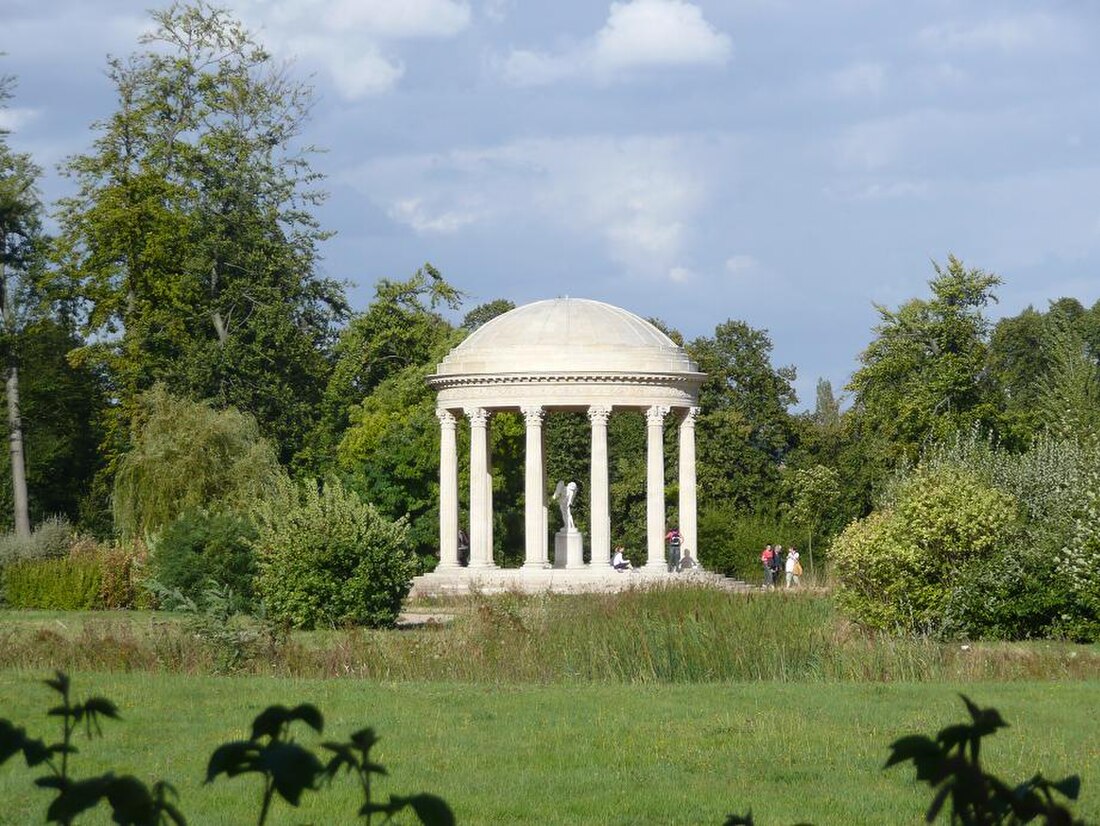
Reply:
[[152, 12], [146, 47], [112, 57], [117, 111], [70, 158], [55, 286], [85, 310], [119, 400], [112, 455], [154, 382], [256, 416], [284, 459], [317, 416], [326, 350], [346, 307], [317, 274], [327, 235], [311, 148], [311, 91], [243, 26], [198, 0]]

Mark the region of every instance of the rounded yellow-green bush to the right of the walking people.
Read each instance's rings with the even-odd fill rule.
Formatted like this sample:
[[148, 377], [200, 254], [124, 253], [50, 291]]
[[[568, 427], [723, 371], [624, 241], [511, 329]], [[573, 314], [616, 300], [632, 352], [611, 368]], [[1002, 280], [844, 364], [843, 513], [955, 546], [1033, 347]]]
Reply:
[[837, 602], [872, 628], [939, 632], [959, 577], [1019, 536], [1016, 503], [950, 465], [917, 467], [893, 496], [833, 543]]

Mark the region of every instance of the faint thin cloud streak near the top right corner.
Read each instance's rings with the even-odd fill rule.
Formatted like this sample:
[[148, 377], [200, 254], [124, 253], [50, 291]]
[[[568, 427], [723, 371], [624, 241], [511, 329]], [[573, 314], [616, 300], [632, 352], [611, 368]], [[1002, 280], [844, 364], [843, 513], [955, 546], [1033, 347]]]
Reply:
[[936, 51], [1058, 49], [1076, 43], [1068, 22], [1045, 12], [991, 18], [977, 23], [941, 23], [917, 32], [921, 46]]

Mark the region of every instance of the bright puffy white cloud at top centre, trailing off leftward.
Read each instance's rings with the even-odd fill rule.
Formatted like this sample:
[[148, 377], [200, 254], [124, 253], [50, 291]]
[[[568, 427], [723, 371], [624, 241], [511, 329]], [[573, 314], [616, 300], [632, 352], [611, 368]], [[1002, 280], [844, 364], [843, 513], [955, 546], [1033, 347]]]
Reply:
[[558, 53], [513, 49], [502, 62], [502, 71], [515, 86], [571, 77], [605, 82], [632, 69], [722, 66], [732, 54], [729, 35], [708, 23], [694, 3], [627, 0], [613, 2], [604, 26], [576, 46]]

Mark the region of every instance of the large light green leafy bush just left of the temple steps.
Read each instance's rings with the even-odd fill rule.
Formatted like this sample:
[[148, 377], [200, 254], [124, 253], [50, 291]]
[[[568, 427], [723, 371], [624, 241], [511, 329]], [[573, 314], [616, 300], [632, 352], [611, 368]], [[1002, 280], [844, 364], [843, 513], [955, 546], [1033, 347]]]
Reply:
[[256, 591], [273, 619], [394, 625], [415, 565], [404, 519], [385, 519], [334, 480], [287, 485], [255, 516]]

